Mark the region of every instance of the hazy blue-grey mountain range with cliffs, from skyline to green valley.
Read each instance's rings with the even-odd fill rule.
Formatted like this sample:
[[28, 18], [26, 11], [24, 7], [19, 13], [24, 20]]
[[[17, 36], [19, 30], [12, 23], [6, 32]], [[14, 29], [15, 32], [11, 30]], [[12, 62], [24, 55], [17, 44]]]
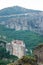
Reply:
[[0, 10], [0, 25], [14, 30], [30, 30], [43, 34], [43, 11], [19, 6]]

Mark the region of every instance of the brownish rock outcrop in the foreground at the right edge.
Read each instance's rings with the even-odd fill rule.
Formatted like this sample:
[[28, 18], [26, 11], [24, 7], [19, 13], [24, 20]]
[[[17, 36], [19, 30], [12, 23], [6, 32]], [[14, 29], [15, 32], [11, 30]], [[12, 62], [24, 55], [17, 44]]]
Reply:
[[34, 49], [34, 54], [38, 57], [38, 62], [43, 62], [43, 44]]

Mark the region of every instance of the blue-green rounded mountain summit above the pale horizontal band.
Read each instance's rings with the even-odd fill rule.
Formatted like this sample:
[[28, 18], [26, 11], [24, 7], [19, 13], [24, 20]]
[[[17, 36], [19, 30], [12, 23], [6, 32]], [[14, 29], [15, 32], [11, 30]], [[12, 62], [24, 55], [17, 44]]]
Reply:
[[9, 15], [9, 14], [25, 14], [25, 13], [28, 13], [28, 12], [36, 12], [36, 11], [37, 12], [42, 12], [42, 11], [39, 11], [39, 10], [32, 10], [32, 9], [22, 8], [20, 6], [13, 6], [13, 7], [8, 7], [8, 8], [4, 8], [4, 9], [0, 10], [0, 14], [2, 14], [2, 15], [5, 15], [5, 13], [7, 15]]

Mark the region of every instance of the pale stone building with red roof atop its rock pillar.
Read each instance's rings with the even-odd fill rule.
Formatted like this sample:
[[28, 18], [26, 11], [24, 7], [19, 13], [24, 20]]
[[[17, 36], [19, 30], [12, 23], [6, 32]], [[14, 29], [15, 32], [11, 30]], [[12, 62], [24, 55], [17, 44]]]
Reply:
[[21, 40], [13, 40], [7, 44], [7, 50], [10, 51], [11, 55], [15, 55], [19, 58], [26, 54], [25, 43]]

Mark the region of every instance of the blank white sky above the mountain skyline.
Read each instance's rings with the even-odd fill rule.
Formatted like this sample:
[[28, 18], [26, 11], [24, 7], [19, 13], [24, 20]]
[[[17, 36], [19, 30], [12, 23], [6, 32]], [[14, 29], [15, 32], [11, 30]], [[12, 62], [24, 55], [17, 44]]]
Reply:
[[11, 6], [21, 6], [43, 11], [43, 0], [0, 0], [0, 9]]

